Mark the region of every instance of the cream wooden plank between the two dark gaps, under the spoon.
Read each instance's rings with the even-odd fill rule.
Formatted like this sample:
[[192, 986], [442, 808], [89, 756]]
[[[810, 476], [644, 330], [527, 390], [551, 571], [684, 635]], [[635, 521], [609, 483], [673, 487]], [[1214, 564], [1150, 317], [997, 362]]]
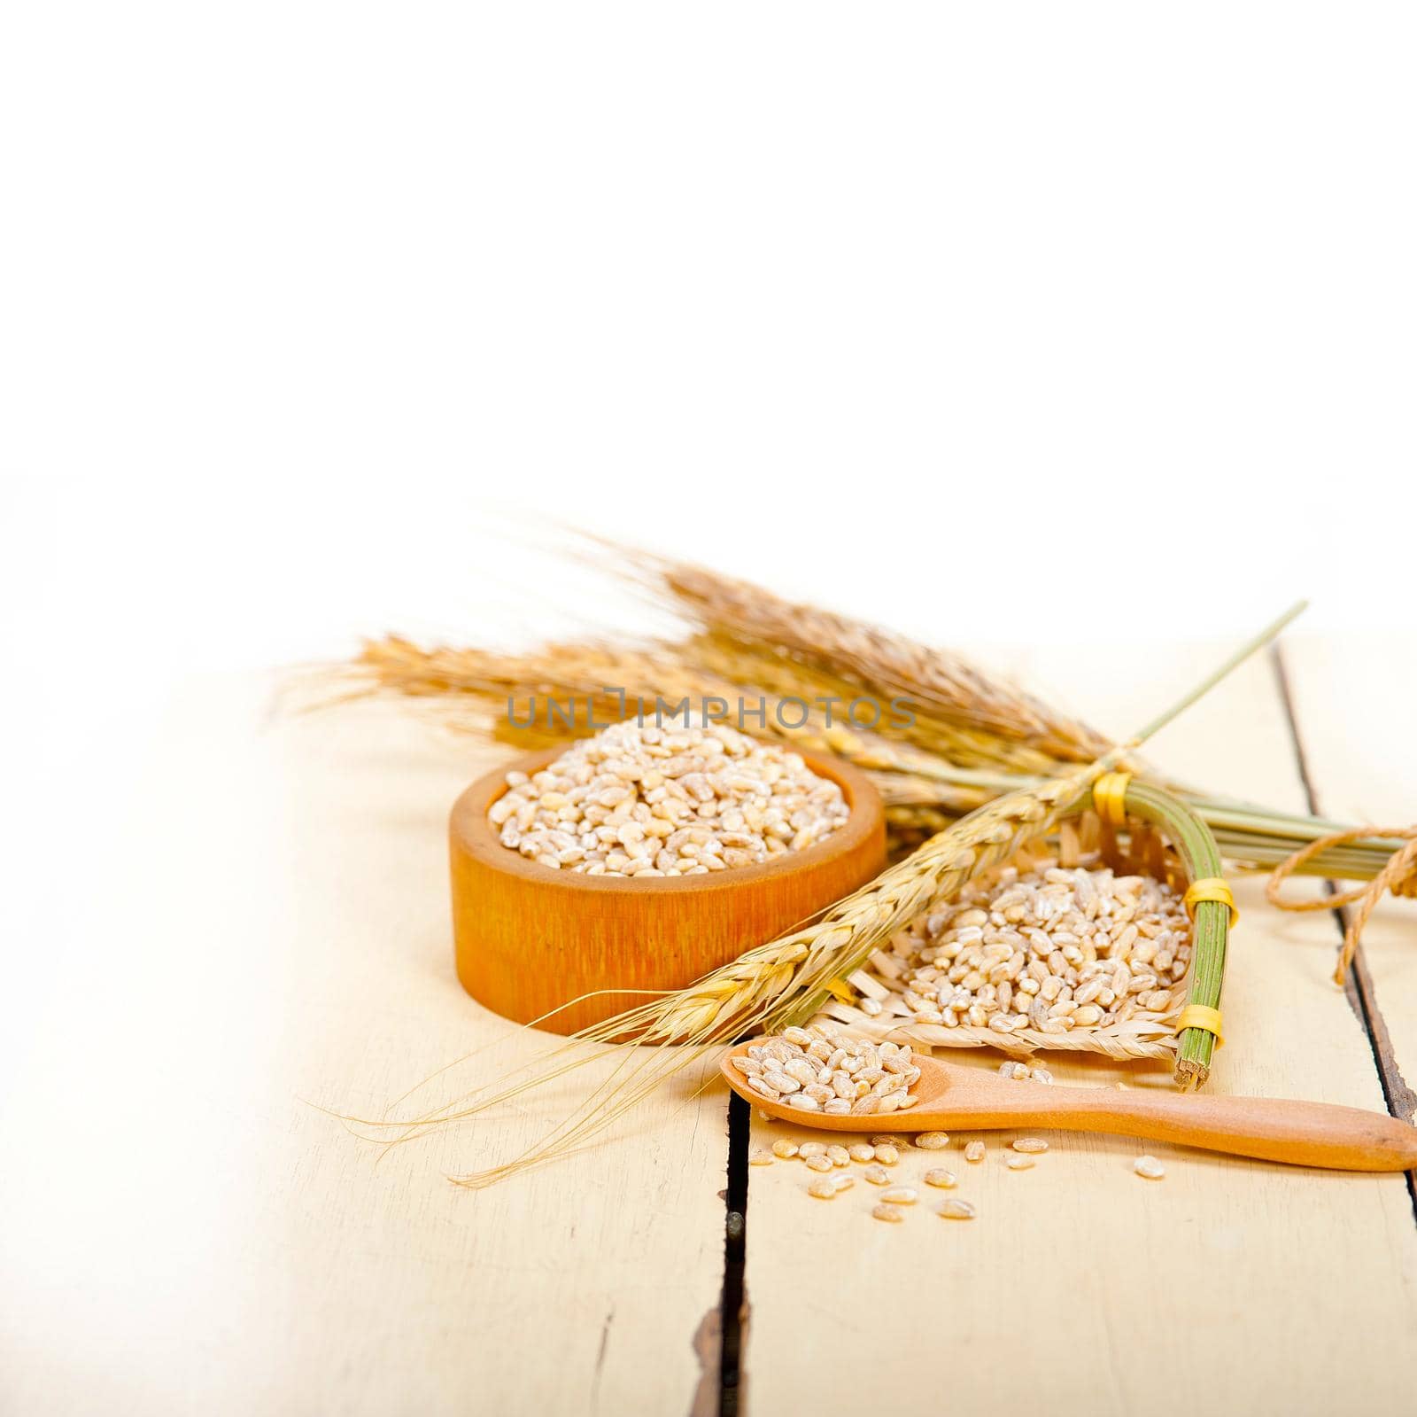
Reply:
[[[1214, 658], [1214, 647], [1121, 654], [1093, 643], [1040, 657], [1033, 678], [1121, 735]], [[1263, 658], [1152, 755], [1216, 790], [1302, 804]], [[1328, 983], [1332, 922], [1267, 911], [1258, 881], [1236, 894], [1244, 921], [1214, 1091], [1382, 1109], [1367, 1040]], [[1060, 1082], [1146, 1082], [1144, 1068], [1051, 1065]], [[786, 1130], [754, 1128], [758, 1146]], [[860, 1182], [816, 1201], [796, 1163], [751, 1170], [750, 1411], [1410, 1411], [1417, 1231], [1403, 1177], [1152, 1145], [1168, 1177], [1151, 1183], [1132, 1173], [1135, 1143], [1063, 1133], [1034, 1170], [1010, 1173], [998, 1139], [978, 1167], [961, 1142], [911, 1150], [900, 1172], [949, 1165], [956, 1194], [978, 1204], [971, 1223], [922, 1204], [884, 1226]]]

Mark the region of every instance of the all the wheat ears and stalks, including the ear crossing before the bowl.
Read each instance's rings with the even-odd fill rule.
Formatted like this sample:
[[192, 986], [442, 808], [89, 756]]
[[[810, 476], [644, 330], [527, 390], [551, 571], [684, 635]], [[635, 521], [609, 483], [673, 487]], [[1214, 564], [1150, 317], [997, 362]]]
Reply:
[[[524, 1155], [462, 1177], [469, 1186], [575, 1149], [703, 1048], [811, 1017], [896, 930], [939, 899], [1049, 837], [1088, 799], [1093, 784], [1125, 762], [1139, 780], [1180, 791], [1209, 824], [1223, 855], [1238, 867], [1270, 869], [1301, 848], [1298, 868], [1315, 875], [1373, 881], [1408, 843], [1353, 837], [1352, 828], [1294, 817], [1175, 789], [1134, 755], [1163, 722], [1206, 692], [1291, 616], [1271, 626], [1180, 704], [1124, 745], [1036, 696], [990, 678], [948, 651], [862, 624], [813, 606], [784, 601], [758, 586], [648, 555], [616, 553], [657, 601], [683, 616], [682, 638], [636, 644], [601, 638], [550, 644], [527, 654], [478, 648], [424, 648], [390, 637], [373, 641], [339, 675], [337, 699], [394, 695], [421, 702], [445, 722], [521, 749], [592, 732], [543, 719], [530, 728], [536, 699], [574, 699], [604, 725], [636, 712], [636, 699], [677, 704], [760, 699], [761, 730], [803, 748], [836, 753], [864, 769], [887, 804], [896, 862], [819, 919], [747, 950], [674, 994], [629, 1010], [557, 1045], [530, 1078], [502, 1079], [434, 1112], [366, 1121], [384, 1140], [410, 1140], [434, 1126], [478, 1115], [529, 1087], [588, 1061], [588, 1044], [633, 1038], [679, 1047], [626, 1048], [612, 1079]], [[329, 682], [329, 681], [326, 681]], [[329, 695], [326, 696], [329, 698]], [[883, 715], [870, 730], [805, 705], [869, 698], [908, 701], [913, 713]], [[792, 712], [777, 708], [792, 701]], [[754, 719], [754, 723], [758, 721]], [[791, 722], [794, 726], [784, 726]], [[1332, 845], [1322, 838], [1348, 830]], [[1219, 987], [1219, 983], [1217, 986]], [[1185, 1045], [1185, 1040], [1182, 1041]], [[359, 1119], [347, 1118], [354, 1122]], [[395, 1135], [390, 1136], [388, 1129]]]

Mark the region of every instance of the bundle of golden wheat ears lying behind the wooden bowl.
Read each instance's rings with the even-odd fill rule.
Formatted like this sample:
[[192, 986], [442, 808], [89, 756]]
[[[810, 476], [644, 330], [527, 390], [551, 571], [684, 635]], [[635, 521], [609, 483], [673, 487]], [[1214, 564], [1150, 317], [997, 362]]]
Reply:
[[[527, 654], [425, 648], [391, 635], [366, 644], [343, 669], [341, 696], [419, 701], [456, 728], [520, 748], [589, 733], [588, 718], [604, 725], [633, 713], [636, 698], [648, 705], [674, 705], [686, 696], [754, 705], [761, 699], [761, 732], [866, 769], [886, 803], [896, 857], [976, 807], [1093, 762], [1111, 746], [1085, 723], [956, 654], [890, 630], [645, 553], [619, 549], [615, 573], [631, 574], [686, 618], [691, 633], [655, 644], [614, 638], [548, 644]], [[832, 716], [813, 706], [859, 698], [877, 705], [907, 701], [911, 721], [886, 713], [863, 730], [843, 723], [840, 711]], [[537, 702], [548, 699], [575, 701], [582, 712], [574, 725], [543, 713], [534, 726], [516, 726], [536, 718]], [[779, 715], [786, 701], [791, 712]], [[784, 726], [784, 719], [794, 726]], [[757, 723], [754, 718], [751, 726]], [[1401, 837], [1362, 835], [1346, 823], [1209, 796], [1145, 770], [1141, 776], [1185, 797], [1226, 860], [1240, 868], [1270, 871], [1342, 834], [1305, 855], [1297, 869], [1373, 881], [1407, 845]]]

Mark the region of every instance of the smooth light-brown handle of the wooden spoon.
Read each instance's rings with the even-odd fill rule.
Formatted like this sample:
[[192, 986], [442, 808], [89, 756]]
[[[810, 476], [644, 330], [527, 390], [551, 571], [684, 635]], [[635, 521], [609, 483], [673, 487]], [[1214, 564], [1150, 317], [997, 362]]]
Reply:
[[[1417, 1167], [1417, 1128], [1380, 1112], [1328, 1102], [1057, 1088], [1046, 1102], [1030, 1099], [1030, 1104], [1027, 1118], [1022, 1108], [1009, 1108], [1013, 1116], [1010, 1121], [1000, 1118], [1002, 1125], [1017, 1126], [1027, 1121], [1067, 1130], [1121, 1132], [1234, 1156], [1346, 1172]], [[966, 1112], [954, 1115], [956, 1126], [969, 1125]]]

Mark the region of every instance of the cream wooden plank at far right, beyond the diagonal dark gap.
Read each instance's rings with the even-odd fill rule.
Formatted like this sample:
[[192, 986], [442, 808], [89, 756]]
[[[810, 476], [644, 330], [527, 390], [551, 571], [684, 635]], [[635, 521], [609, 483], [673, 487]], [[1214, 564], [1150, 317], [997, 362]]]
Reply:
[[[1391, 635], [1297, 637], [1285, 645], [1291, 708], [1309, 783], [1326, 817], [1417, 823], [1417, 643]], [[1350, 882], [1345, 882], [1350, 884]], [[1417, 1104], [1417, 905], [1386, 896], [1363, 932], [1376, 1047], [1400, 1115]]]

